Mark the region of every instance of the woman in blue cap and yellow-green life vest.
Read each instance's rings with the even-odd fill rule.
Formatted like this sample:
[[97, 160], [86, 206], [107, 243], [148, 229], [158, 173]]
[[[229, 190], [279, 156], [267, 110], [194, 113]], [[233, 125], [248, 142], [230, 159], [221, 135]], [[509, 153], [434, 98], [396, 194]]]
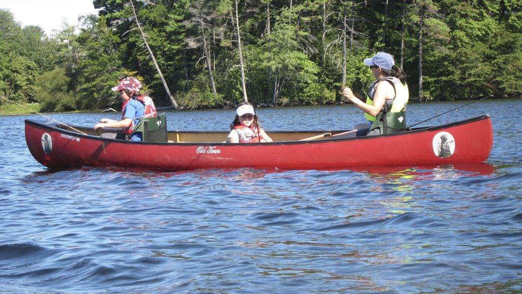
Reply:
[[406, 73], [395, 65], [392, 55], [378, 52], [372, 58], [364, 59], [377, 79], [368, 89], [368, 98], [363, 102], [355, 97], [350, 88], [343, 90], [343, 96], [365, 112], [373, 121], [370, 128], [357, 131], [357, 135], [378, 135], [395, 133], [406, 128], [406, 104], [409, 99]]

